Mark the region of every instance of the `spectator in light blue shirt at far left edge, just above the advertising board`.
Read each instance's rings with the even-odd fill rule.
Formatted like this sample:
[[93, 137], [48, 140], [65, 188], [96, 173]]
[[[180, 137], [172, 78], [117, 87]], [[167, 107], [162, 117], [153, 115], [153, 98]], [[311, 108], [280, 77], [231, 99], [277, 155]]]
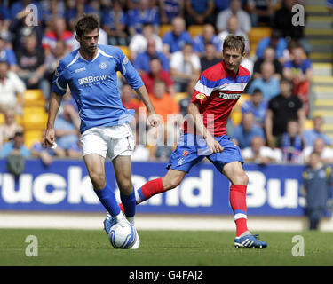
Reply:
[[30, 157], [30, 151], [28, 147], [24, 145], [24, 135], [22, 131], [15, 132], [12, 140], [4, 143], [0, 152], [0, 158], [8, 158], [10, 155], [21, 155], [26, 159]]

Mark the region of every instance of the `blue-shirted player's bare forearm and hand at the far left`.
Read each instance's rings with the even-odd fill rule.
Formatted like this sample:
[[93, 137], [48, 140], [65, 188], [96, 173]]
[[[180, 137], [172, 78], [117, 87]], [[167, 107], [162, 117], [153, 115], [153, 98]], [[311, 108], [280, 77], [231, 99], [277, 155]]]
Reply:
[[55, 92], [52, 92], [50, 98], [49, 116], [47, 119], [46, 130], [44, 133], [44, 145], [47, 147], [53, 146], [55, 142], [54, 121], [57, 117], [61, 100], [62, 96], [59, 96]]

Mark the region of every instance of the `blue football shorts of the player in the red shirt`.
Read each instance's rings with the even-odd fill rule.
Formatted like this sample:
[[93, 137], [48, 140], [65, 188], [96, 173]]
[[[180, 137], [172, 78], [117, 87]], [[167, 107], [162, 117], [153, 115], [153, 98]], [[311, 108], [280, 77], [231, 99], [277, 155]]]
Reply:
[[205, 157], [222, 173], [226, 163], [239, 161], [243, 163], [241, 150], [226, 135], [214, 137], [224, 148], [222, 152], [211, 154], [206, 141], [200, 135], [182, 133], [176, 149], [170, 156], [167, 169], [189, 172], [191, 168]]

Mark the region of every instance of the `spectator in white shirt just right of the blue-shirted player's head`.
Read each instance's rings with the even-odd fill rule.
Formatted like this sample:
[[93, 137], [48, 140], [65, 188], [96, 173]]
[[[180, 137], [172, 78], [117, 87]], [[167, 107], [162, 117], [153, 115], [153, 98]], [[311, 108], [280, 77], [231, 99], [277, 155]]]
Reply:
[[142, 34], [132, 36], [130, 42], [131, 59], [135, 60], [138, 53], [147, 51], [148, 40], [153, 38], [155, 40], [155, 50], [158, 52], [163, 51], [163, 42], [160, 36], [154, 32], [153, 26], [150, 24], [144, 25]]

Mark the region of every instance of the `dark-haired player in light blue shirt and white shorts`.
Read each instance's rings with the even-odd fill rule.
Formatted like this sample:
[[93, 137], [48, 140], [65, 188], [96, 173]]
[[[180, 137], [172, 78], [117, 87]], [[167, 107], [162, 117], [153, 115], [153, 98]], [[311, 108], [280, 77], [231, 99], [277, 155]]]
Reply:
[[[122, 73], [147, 106], [151, 126], [157, 127], [159, 119], [139, 73], [123, 51], [115, 46], [98, 44], [99, 21], [94, 16], [84, 15], [78, 20], [75, 31], [75, 39], [80, 43], [80, 48], [59, 61], [52, 83], [44, 145], [55, 145], [54, 121], [68, 85], [79, 109], [83, 160], [94, 191], [113, 217], [114, 224], [130, 222], [134, 225], [136, 199], [131, 183], [134, 139], [129, 126], [134, 111], [123, 106], [117, 88], [117, 71]], [[111, 186], [107, 185], [107, 157], [114, 165], [125, 216], [115, 200]], [[139, 235], [136, 230], [135, 238], [132, 248], [139, 248]]]

